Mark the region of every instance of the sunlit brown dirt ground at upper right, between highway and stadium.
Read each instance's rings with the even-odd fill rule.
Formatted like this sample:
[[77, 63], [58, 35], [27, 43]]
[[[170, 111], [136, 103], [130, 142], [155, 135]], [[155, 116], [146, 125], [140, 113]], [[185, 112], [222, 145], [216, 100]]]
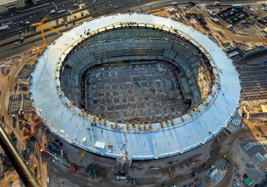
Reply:
[[[226, 7], [226, 6], [225, 6]], [[255, 8], [255, 7], [254, 7]], [[172, 8], [173, 9], [173, 8]], [[211, 9], [211, 8], [209, 8]], [[256, 9], [256, 8], [255, 8]], [[266, 38], [266, 34], [264, 32], [262, 32], [261, 30], [263, 29], [264, 25], [262, 25], [259, 22], [255, 22], [252, 25], [249, 24], [241, 24], [238, 23], [236, 25], [234, 25], [232, 27], [232, 29], [227, 29], [227, 27], [230, 25], [229, 22], [225, 21], [224, 19], [222, 19], [220, 16], [215, 15], [215, 16], [211, 16], [208, 12], [207, 12], [207, 7], [205, 7], [205, 5], [200, 5], [199, 7], [195, 6], [190, 8], [189, 6], [184, 7], [181, 6], [179, 7], [179, 9], [174, 9], [174, 11], [167, 11], [169, 9], [164, 9], [164, 10], [158, 10], [158, 11], [154, 11], [153, 14], [156, 15], [161, 15], [161, 16], [172, 16], [175, 15], [175, 13], [178, 13], [179, 15], [182, 15], [183, 13], [196, 13], [196, 14], [202, 14], [203, 19], [207, 22], [208, 24], [208, 29], [203, 28], [200, 23], [196, 20], [196, 19], [179, 19], [179, 21], [186, 23], [188, 25], [192, 25], [193, 27], [195, 27], [196, 29], [198, 29], [199, 31], [203, 32], [203, 33], [209, 33], [211, 32], [214, 36], [214, 41], [217, 42], [223, 49], [228, 50], [227, 47], [231, 48], [231, 47], [235, 47], [235, 46], [239, 46], [240, 48], [243, 47], [252, 47], [252, 48], [256, 48], [255, 45], [259, 44], [259, 43], [264, 43], [266, 42], [267, 38]], [[220, 9], [211, 9], [212, 11], [220, 11]], [[253, 16], [250, 14], [250, 12], [248, 11], [248, 15]], [[261, 17], [263, 19], [263, 17], [266, 15], [266, 13], [262, 10], [262, 8], [258, 8], [257, 11], [255, 12], [255, 15]], [[210, 18], [217, 18], [219, 19], [219, 23], [215, 23], [214, 21], [212, 21]], [[176, 19], [176, 17], [175, 17]], [[221, 29], [221, 32], [218, 32], [218, 29]], [[250, 36], [245, 36], [243, 33], [246, 34], [250, 34]], [[219, 37], [216, 37], [219, 36]], [[234, 38], [234, 39], [233, 39]], [[238, 43], [233, 42], [233, 40], [238, 41]], [[230, 42], [229, 45], [225, 46], [222, 45], [221, 43], [225, 43], [225, 42]]]

